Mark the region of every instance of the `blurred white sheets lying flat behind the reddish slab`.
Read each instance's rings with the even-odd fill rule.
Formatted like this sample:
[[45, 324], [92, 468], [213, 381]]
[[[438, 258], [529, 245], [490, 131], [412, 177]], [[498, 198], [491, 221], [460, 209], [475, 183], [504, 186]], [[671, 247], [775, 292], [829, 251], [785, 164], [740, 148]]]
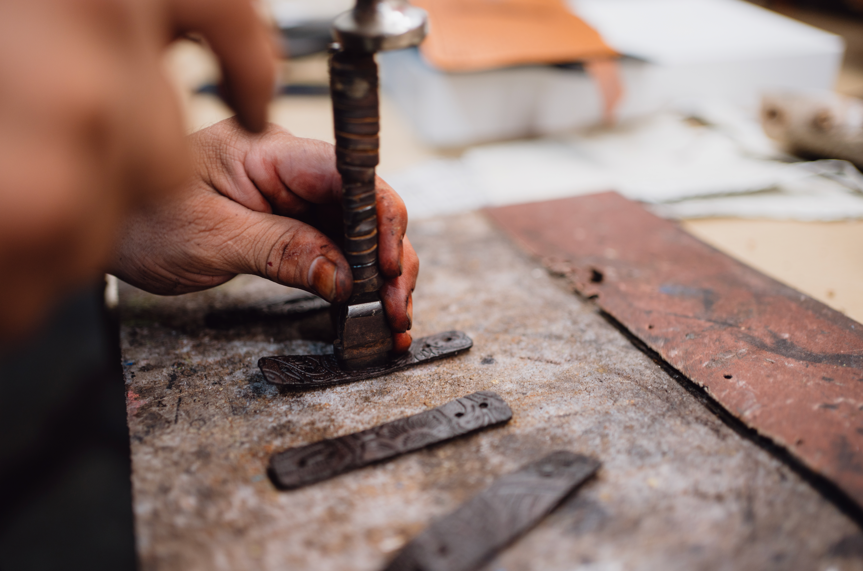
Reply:
[[[863, 175], [844, 161], [789, 163], [757, 123], [720, 106], [615, 129], [471, 147], [387, 175], [410, 216], [619, 191], [675, 218], [863, 218]], [[712, 124], [704, 124], [704, 122]]]

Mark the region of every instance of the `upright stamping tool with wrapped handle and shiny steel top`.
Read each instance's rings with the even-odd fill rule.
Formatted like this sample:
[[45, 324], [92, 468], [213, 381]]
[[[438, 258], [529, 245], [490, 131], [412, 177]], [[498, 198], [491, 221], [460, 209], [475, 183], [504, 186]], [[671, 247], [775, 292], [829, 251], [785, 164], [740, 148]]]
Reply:
[[330, 60], [336, 167], [342, 176], [344, 255], [354, 276], [353, 293], [337, 309], [336, 359], [343, 368], [381, 366], [393, 334], [378, 290], [375, 166], [378, 164], [378, 75], [375, 52], [419, 44], [425, 12], [404, 0], [357, 0], [333, 22]]

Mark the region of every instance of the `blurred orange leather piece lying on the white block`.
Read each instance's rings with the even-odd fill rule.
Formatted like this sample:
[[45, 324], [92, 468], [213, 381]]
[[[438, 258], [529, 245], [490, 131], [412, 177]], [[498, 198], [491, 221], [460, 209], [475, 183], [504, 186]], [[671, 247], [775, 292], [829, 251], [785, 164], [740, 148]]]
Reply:
[[428, 11], [420, 50], [444, 72], [618, 57], [561, 0], [413, 0]]

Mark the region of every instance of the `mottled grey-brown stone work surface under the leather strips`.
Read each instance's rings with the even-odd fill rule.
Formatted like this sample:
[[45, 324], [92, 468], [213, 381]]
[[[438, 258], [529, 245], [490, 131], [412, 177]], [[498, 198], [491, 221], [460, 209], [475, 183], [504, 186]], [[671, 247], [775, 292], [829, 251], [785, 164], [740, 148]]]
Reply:
[[[863, 569], [851, 520], [481, 215], [409, 234], [413, 334], [462, 329], [474, 348], [351, 385], [290, 392], [257, 370], [264, 355], [331, 351], [326, 311], [205, 326], [211, 311], [298, 292], [248, 276], [177, 298], [122, 287], [144, 571], [380, 569], [432, 519], [558, 449], [602, 468], [486, 571]], [[508, 424], [293, 492], [265, 474], [274, 452], [482, 390], [507, 400]]]

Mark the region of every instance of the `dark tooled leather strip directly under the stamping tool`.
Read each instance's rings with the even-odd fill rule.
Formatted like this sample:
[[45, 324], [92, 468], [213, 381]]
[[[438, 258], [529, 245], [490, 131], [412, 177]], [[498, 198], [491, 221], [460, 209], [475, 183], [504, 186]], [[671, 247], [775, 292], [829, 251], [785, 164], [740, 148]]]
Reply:
[[305, 390], [380, 377], [420, 363], [458, 355], [471, 348], [473, 344], [474, 342], [463, 331], [445, 331], [415, 340], [406, 354], [399, 355], [381, 367], [369, 367], [358, 371], [343, 370], [338, 366], [333, 355], [261, 357], [258, 360], [258, 367], [261, 368], [261, 373], [269, 383]]

